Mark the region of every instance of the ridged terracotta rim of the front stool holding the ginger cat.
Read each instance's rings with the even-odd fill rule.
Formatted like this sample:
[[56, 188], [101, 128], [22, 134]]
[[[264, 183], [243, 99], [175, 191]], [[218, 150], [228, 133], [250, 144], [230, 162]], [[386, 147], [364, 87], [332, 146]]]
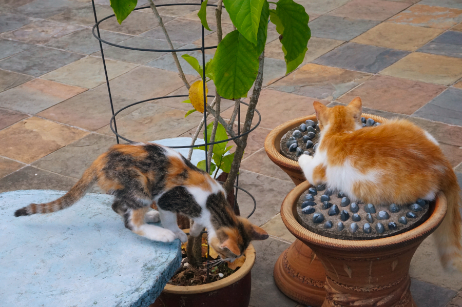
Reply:
[[287, 194], [281, 206], [281, 217], [287, 229], [302, 241], [310, 242], [319, 247], [336, 249], [340, 251], [377, 251], [390, 250], [404, 245], [408, 245], [417, 240], [423, 240], [430, 235], [444, 219], [447, 211], [446, 196], [439, 192], [436, 196], [435, 207], [430, 217], [418, 227], [410, 231], [394, 235], [391, 237], [373, 240], [340, 240], [318, 235], [305, 229], [294, 216], [294, 209], [300, 195], [310, 188], [308, 181], [300, 183], [290, 193]]

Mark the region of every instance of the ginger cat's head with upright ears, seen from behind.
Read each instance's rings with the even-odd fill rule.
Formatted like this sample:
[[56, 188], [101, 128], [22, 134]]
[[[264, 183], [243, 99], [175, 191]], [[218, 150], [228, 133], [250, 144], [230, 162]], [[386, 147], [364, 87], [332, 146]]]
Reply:
[[328, 108], [319, 101], [313, 103], [319, 128], [335, 126], [335, 130], [354, 131], [361, 128], [361, 98], [354, 98], [348, 106]]

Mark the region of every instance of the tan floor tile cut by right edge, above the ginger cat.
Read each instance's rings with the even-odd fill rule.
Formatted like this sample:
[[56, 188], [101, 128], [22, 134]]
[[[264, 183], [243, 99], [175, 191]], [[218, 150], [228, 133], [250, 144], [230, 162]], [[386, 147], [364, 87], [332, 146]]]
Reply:
[[413, 52], [380, 74], [451, 85], [462, 77], [462, 58]]

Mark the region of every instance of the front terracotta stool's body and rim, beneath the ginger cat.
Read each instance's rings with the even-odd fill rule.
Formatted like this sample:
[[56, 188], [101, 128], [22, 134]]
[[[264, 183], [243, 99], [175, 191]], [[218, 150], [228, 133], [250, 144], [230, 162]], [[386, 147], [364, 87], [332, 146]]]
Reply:
[[307, 181], [284, 199], [281, 217], [287, 229], [308, 245], [326, 273], [322, 307], [412, 307], [409, 265], [420, 243], [439, 226], [447, 203], [439, 193], [430, 203], [430, 217], [420, 226], [375, 240], [339, 240], [315, 234], [296, 219], [297, 201], [310, 188]]

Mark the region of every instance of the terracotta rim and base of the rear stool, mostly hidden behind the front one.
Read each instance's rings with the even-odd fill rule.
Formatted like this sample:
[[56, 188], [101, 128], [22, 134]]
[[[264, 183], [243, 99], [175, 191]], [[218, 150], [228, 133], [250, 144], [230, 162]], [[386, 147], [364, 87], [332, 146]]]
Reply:
[[[383, 122], [385, 118], [362, 114], [366, 118]], [[273, 129], [265, 139], [265, 151], [269, 159], [279, 166], [299, 185], [305, 181], [298, 162], [286, 158], [280, 152], [280, 142], [284, 134], [300, 126], [305, 120], [316, 120], [316, 115], [299, 117], [285, 122]], [[319, 258], [298, 239], [285, 250], [274, 267], [274, 279], [278, 288], [293, 300], [313, 307], [321, 306], [325, 298], [325, 272]]]

